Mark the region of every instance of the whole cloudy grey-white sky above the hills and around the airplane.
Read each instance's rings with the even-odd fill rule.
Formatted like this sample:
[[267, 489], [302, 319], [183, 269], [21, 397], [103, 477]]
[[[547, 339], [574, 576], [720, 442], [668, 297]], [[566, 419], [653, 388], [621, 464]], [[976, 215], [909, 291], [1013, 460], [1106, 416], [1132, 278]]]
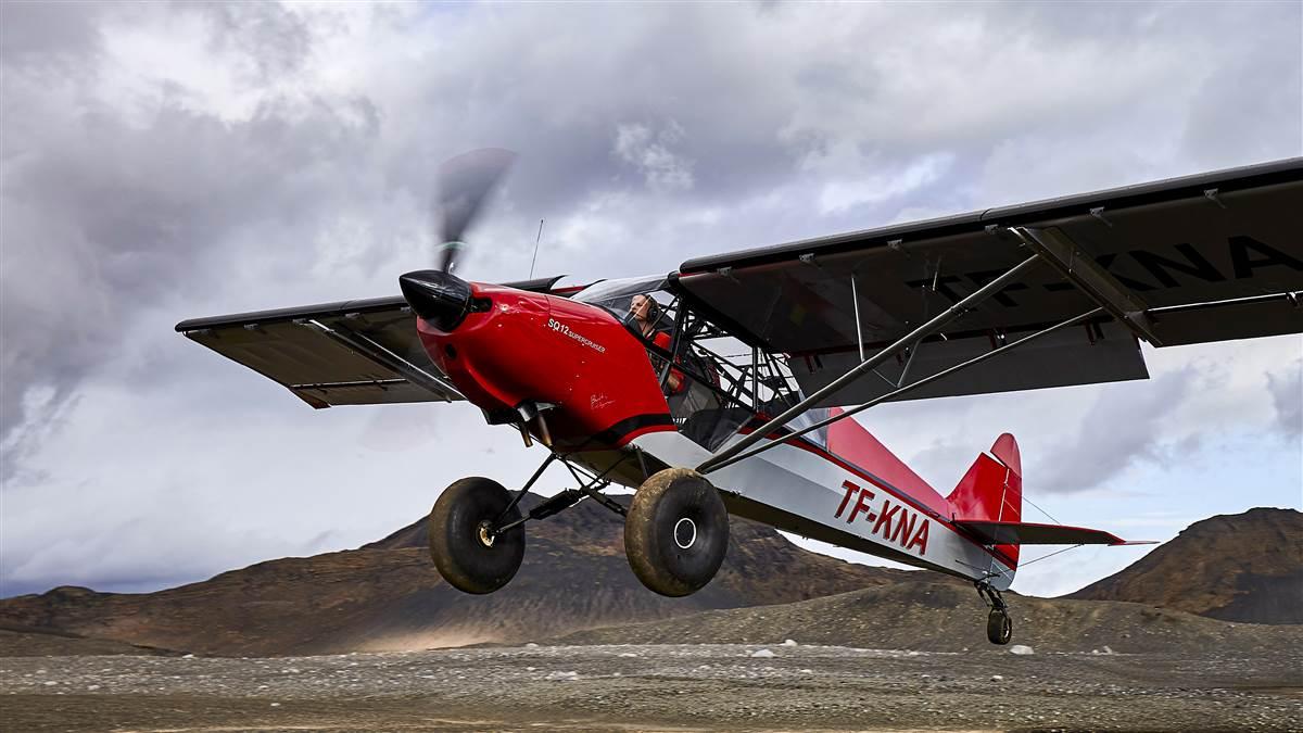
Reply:
[[[395, 293], [457, 153], [520, 153], [468, 277], [525, 277], [539, 218], [539, 274], [668, 271], [1300, 155], [1300, 8], [4, 3], [0, 596], [356, 546], [457, 477], [528, 476], [538, 449], [473, 407], [313, 411], [172, 331]], [[1131, 537], [1303, 505], [1303, 339], [1147, 356], [1148, 382], [861, 423], [943, 490], [1011, 430], [1031, 501]]]

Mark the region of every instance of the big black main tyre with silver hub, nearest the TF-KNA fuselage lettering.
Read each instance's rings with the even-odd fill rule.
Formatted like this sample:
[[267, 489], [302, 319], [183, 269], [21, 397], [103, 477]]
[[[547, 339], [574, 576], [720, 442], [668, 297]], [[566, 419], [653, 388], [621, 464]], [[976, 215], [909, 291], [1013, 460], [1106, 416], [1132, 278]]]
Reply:
[[705, 477], [666, 468], [638, 486], [624, 519], [633, 574], [662, 596], [701, 590], [728, 550], [728, 510]]

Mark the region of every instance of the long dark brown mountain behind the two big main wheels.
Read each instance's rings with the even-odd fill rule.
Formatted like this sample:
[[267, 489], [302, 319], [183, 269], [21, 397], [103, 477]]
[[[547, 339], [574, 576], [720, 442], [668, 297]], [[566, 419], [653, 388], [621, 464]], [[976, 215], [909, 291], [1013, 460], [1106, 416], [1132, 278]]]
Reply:
[[[526, 507], [532, 505], [526, 497]], [[685, 599], [644, 588], [624, 558], [623, 520], [593, 502], [528, 526], [525, 563], [502, 591], [442, 582], [425, 520], [356, 550], [284, 558], [154, 593], [61, 587], [0, 601], [0, 626], [195, 653], [261, 656], [528, 642], [706, 609], [782, 604], [891, 584], [907, 573], [803, 550], [732, 519], [719, 575]]]

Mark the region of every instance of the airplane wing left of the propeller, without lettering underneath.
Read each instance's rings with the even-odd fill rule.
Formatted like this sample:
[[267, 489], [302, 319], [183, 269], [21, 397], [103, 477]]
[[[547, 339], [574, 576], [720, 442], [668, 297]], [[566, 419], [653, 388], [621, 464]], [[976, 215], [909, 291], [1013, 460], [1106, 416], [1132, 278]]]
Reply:
[[[559, 279], [506, 284], [547, 292]], [[401, 296], [192, 318], [176, 330], [314, 408], [463, 399], [426, 355]]]

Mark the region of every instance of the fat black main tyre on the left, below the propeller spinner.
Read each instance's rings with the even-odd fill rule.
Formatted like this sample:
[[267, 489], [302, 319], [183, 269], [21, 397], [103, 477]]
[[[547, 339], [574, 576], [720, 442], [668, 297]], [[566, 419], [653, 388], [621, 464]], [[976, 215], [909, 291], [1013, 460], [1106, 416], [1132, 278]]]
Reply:
[[453, 481], [430, 511], [430, 557], [439, 575], [466, 593], [491, 593], [509, 582], [525, 558], [525, 527], [494, 535], [493, 527], [520, 519], [511, 493], [498, 481], [472, 476]]

